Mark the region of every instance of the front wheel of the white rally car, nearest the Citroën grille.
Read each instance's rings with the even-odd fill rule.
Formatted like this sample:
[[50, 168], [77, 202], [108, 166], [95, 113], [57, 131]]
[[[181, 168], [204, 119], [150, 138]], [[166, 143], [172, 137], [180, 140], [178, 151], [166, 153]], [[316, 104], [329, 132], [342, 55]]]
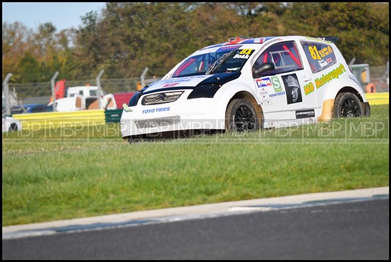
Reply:
[[246, 132], [260, 129], [260, 119], [253, 105], [245, 99], [234, 99], [225, 113], [226, 132]]

